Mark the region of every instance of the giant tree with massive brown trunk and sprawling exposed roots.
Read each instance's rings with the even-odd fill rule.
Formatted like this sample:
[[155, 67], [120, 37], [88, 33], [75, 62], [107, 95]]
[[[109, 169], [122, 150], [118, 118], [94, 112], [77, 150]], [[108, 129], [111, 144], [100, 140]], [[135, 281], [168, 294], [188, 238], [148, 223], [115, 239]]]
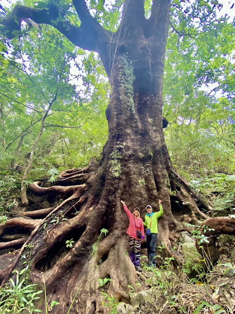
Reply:
[[[45, 282], [48, 302], [60, 302], [58, 314], [67, 313], [76, 291], [71, 313], [105, 311], [98, 278], [113, 280], [108, 293], [119, 300], [128, 302], [126, 285], [137, 288], [135, 268], [125, 254], [128, 221], [121, 199], [130, 208], [138, 205], [141, 215], [147, 204], [158, 209], [158, 199], [163, 200], [159, 243], [163, 242], [168, 256], [174, 255], [171, 241], [186, 228], [177, 216], [185, 212], [192, 221], [206, 219], [201, 209], [211, 209], [174, 169], [164, 142], [162, 90], [170, 0], [156, 0], [151, 6], [146, 1], [148, 17], [144, 2], [124, 2], [117, 31], [108, 29], [105, 16], [111, 11], [104, 8], [103, 1], [91, 1], [96, 10], [85, 0], [73, 0], [72, 4], [39, 1], [35, 7], [16, 5], [1, 20], [8, 38], [21, 34], [22, 21], [30, 26], [33, 22], [54, 26], [74, 45], [98, 52], [111, 85], [106, 109], [109, 136], [102, 156], [91, 159], [83, 169], [62, 172], [53, 186], [30, 184], [36, 195], [48, 193], [50, 200], [56, 193], [64, 197], [60, 202], [56, 199], [53, 209], [22, 213], [32, 219], [14, 218], [0, 227], [1, 234], [13, 227], [19, 233], [31, 232], [26, 241], [20, 239], [21, 244], [25, 242], [18, 254], [2, 256], [1, 280], [4, 282], [13, 268], [22, 269], [26, 259], [32, 282]], [[209, 20], [215, 2], [208, 2], [204, 8]], [[179, 3], [174, 4], [177, 7]], [[174, 201], [180, 204], [180, 212]], [[108, 230], [107, 236], [103, 236], [104, 229]], [[65, 242], [71, 238], [74, 245], [66, 248]], [[182, 262], [178, 255], [174, 257], [176, 262]]]

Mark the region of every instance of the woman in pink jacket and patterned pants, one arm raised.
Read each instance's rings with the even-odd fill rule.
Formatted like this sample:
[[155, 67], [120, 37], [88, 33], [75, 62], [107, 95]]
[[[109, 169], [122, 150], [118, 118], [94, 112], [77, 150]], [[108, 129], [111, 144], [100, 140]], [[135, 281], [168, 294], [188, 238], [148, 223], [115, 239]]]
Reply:
[[[140, 217], [140, 209], [137, 207], [133, 213], [127, 208], [125, 202], [121, 201], [125, 212], [129, 217], [129, 227], [127, 229], [127, 238], [129, 243], [129, 256], [136, 267], [136, 270], [141, 271], [141, 242], [144, 239], [143, 221]], [[137, 237], [137, 230], [141, 232], [141, 238]]]

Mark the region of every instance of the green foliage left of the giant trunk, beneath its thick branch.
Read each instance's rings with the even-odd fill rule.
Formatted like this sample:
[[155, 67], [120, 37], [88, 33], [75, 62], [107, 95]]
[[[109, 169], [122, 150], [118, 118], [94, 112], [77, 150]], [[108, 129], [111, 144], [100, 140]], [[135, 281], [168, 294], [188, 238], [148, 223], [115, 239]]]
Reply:
[[[38, 5], [47, 7], [47, 2]], [[63, 10], [69, 6], [67, 1]], [[72, 13], [68, 14], [72, 18]], [[12, 40], [9, 45], [2, 40], [0, 51], [5, 52], [0, 54], [2, 169], [9, 169], [15, 159], [19, 184], [40, 131], [41, 112], [55, 95], [27, 181], [49, 174], [53, 183], [59, 171], [85, 166], [101, 152], [107, 137], [109, 85], [97, 55], [74, 48], [51, 26], [40, 26], [40, 31], [32, 27], [20, 41]], [[77, 69], [83, 74], [77, 74]], [[6, 175], [12, 173], [7, 171]]]

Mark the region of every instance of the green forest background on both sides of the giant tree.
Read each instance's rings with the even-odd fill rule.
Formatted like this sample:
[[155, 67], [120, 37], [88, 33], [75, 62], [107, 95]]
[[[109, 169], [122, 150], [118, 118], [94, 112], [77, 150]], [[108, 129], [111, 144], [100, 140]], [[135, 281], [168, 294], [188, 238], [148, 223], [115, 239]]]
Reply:
[[[90, 10], [115, 31], [122, 1], [107, 2], [104, 7], [103, 1], [91, 0]], [[230, 14], [219, 13], [217, 1], [212, 1], [216, 16], [201, 16], [206, 2], [182, 0], [171, 6], [164, 136], [175, 168], [213, 204], [211, 215], [227, 216], [235, 213], [235, 27]], [[38, 1], [38, 7], [45, 3]], [[232, 10], [234, 3], [228, 3]], [[151, 1], [145, 1], [146, 16], [150, 7]], [[0, 10], [5, 15], [6, 7]], [[68, 17], [77, 23], [72, 12]], [[111, 90], [97, 53], [74, 47], [48, 25], [28, 20], [22, 30], [0, 42], [3, 223], [24, 207], [21, 193], [30, 183], [41, 178], [54, 183], [63, 170], [85, 167], [91, 157], [99, 158], [108, 136], [105, 110]]]

